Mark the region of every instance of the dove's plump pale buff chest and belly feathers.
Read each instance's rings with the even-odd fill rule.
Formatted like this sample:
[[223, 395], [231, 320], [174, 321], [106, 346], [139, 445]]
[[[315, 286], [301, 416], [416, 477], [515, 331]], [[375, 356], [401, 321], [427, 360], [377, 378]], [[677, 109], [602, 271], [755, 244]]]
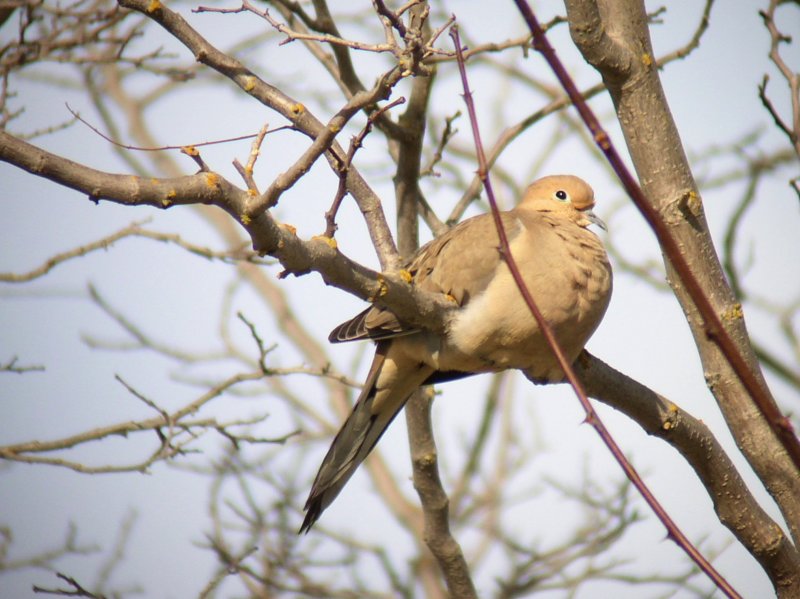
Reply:
[[[549, 214], [525, 221], [510, 240], [511, 253], [537, 307], [574, 359], [608, 305], [611, 271], [605, 250], [594, 233], [571, 221]], [[541, 365], [543, 353], [551, 356], [502, 261], [484, 291], [455, 318], [448, 341], [460, 353], [499, 368], [528, 369]]]

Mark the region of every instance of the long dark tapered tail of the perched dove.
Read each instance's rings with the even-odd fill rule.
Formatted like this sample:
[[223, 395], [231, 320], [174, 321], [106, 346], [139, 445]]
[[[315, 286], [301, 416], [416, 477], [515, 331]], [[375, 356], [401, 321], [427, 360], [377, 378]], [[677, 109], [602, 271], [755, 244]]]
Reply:
[[336, 434], [331, 448], [322, 460], [306, 501], [306, 517], [299, 533], [311, 530], [405, 404], [407, 397], [402, 397], [394, 402], [396, 405], [387, 406], [378, 413], [373, 410], [376, 383], [388, 348], [389, 342], [378, 343], [369, 375], [353, 411]]

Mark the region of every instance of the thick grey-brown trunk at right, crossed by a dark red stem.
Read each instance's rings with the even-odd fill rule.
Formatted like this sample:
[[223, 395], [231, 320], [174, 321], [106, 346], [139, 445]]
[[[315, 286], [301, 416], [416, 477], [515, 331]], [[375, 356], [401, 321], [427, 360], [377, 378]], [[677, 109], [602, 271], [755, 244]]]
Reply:
[[[576, 35], [575, 41], [586, 60], [600, 69], [617, 108], [646, 196], [637, 206], [649, 216], [648, 223], [664, 249], [670, 283], [687, 315], [707, 383], [737, 444], [781, 507], [797, 541], [800, 476], [793, 462], [797, 456], [790, 454], [797, 439], [787, 428], [788, 422], [781, 420], [749, 343], [741, 306], [725, 282], [697, 186], [653, 65], [643, 3], [568, 0], [567, 12], [571, 29], [585, 32], [600, 27], [614, 35], [616, 54], [611, 57], [606, 55], [610, 51], [607, 44], [592, 43], [596, 36]], [[630, 68], [611, 69], [607, 67], [610, 63]], [[673, 265], [681, 267], [680, 274]]]

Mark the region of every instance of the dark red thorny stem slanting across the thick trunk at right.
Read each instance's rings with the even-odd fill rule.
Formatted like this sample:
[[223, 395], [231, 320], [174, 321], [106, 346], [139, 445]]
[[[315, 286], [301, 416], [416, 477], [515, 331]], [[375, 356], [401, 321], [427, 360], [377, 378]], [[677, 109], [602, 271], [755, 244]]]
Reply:
[[728, 331], [723, 326], [714, 307], [711, 305], [711, 301], [703, 291], [702, 285], [697, 280], [697, 277], [694, 276], [694, 273], [689, 267], [689, 263], [683, 257], [683, 254], [681, 254], [678, 243], [671, 235], [666, 223], [653, 205], [647, 201], [642, 188], [625, 166], [617, 150], [611, 144], [608, 134], [600, 126], [597, 117], [584, 101], [583, 96], [581, 96], [580, 91], [578, 91], [569, 73], [567, 73], [564, 65], [558, 59], [558, 56], [556, 56], [555, 50], [550, 45], [550, 42], [547, 41], [547, 37], [530, 6], [528, 6], [525, 0], [514, 0], [514, 2], [533, 34], [534, 47], [541, 52], [547, 60], [547, 63], [555, 73], [564, 91], [567, 92], [572, 104], [578, 110], [583, 122], [586, 123], [586, 126], [592, 133], [595, 143], [606, 155], [606, 158], [622, 182], [623, 187], [625, 187], [625, 191], [631, 197], [633, 203], [636, 204], [639, 212], [655, 233], [659, 245], [668, 256], [681, 283], [683, 283], [683, 286], [689, 292], [689, 296], [700, 312], [705, 322], [706, 335], [720, 348], [725, 359], [731, 365], [731, 368], [747, 390], [747, 393], [753, 399], [753, 402], [758, 406], [758, 409], [786, 449], [795, 466], [800, 469], [800, 440], [798, 440], [795, 435], [791, 422], [781, 413], [775, 400], [770, 395], [769, 390], [761, 384], [753, 370], [748, 366], [747, 360], [745, 360], [742, 352], [739, 351], [736, 343], [728, 334]]

